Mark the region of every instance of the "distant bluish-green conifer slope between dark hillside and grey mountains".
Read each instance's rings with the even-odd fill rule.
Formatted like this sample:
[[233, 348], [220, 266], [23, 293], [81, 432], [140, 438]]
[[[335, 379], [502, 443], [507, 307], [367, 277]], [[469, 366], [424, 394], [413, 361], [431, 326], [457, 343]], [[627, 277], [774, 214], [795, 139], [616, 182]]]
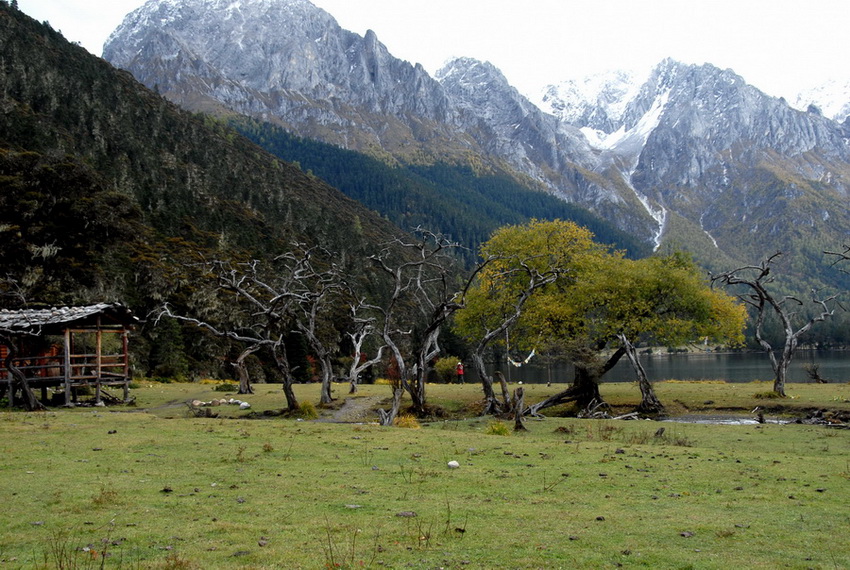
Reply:
[[228, 123], [276, 156], [297, 162], [402, 229], [423, 226], [452, 236], [473, 253], [498, 227], [532, 218], [570, 220], [597, 241], [632, 257], [651, 248], [584, 208], [530, 190], [507, 173], [479, 174], [470, 166], [435, 163], [390, 166], [362, 153], [293, 135], [269, 123], [232, 117]]

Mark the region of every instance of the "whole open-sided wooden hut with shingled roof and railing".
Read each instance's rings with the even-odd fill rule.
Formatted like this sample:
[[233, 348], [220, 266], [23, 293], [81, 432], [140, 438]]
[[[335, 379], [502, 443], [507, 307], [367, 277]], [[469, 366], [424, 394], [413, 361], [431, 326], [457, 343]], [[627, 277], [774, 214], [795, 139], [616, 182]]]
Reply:
[[[102, 401], [101, 388], [118, 386], [129, 397], [130, 330], [138, 319], [119, 303], [85, 307], [0, 310], [0, 332], [14, 342], [11, 367], [9, 346], [0, 346], [0, 393], [14, 404], [11, 368], [23, 373], [32, 390], [41, 389], [46, 403], [48, 388], [64, 389], [65, 405], [72, 405], [80, 387], [94, 387], [95, 402]], [[2, 390], [5, 388], [5, 390]]]

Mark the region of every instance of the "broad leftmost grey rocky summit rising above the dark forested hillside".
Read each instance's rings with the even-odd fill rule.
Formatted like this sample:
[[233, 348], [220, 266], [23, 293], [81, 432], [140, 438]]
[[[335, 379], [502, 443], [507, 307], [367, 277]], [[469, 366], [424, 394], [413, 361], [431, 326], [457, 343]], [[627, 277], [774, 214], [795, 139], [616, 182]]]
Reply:
[[405, 130], [409, 115], [436, 130], [450, 120], [442, 88], [421, 66], [392, 57], [372, 32], [343, 30], [307, 0], [151, 0], [113, 32], [103, 56], [183, 106], [312, 125], [332, 142], [349, 142], [356, 126], [374, 144], [391, 127]]

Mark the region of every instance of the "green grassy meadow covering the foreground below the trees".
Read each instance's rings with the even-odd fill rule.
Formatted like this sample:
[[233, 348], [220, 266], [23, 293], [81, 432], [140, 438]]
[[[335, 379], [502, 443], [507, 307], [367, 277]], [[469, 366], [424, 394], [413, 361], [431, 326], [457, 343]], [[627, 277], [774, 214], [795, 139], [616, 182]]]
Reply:
[[[264, 418], [283, 406], [273, 385], [251, 410], [192, 417], [186, 400], [231, 396], [213, 388], [0, 412], [0, 568], [850, 567], [850, 430], [550, 417], [513, 433], [459, 419], [471, 385], [429, 386], [451, 419], [421, 429]], [[678, 413], [850, 409], [847, 384], [790, 385], [781, 410], [769, 384], [656, 388]], [[636, 391], [603, 385], [622, 409]]]

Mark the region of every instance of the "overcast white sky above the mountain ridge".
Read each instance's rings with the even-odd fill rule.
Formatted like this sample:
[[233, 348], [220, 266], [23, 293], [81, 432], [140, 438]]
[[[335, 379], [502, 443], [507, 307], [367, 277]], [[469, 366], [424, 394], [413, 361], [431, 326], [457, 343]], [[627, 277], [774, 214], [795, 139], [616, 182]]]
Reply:
[[[249, 1], [249, 0], [242, 0]], [[665, 57], [732, 68], [793, 98], [850, 78], [847, 0], [313, 0], [348, 30], [433, 74], [449, 57], [490, 61], [526, 94], [568, 78], [649, 68]], [[18, 0], [100, 55], [144, 0]]]

